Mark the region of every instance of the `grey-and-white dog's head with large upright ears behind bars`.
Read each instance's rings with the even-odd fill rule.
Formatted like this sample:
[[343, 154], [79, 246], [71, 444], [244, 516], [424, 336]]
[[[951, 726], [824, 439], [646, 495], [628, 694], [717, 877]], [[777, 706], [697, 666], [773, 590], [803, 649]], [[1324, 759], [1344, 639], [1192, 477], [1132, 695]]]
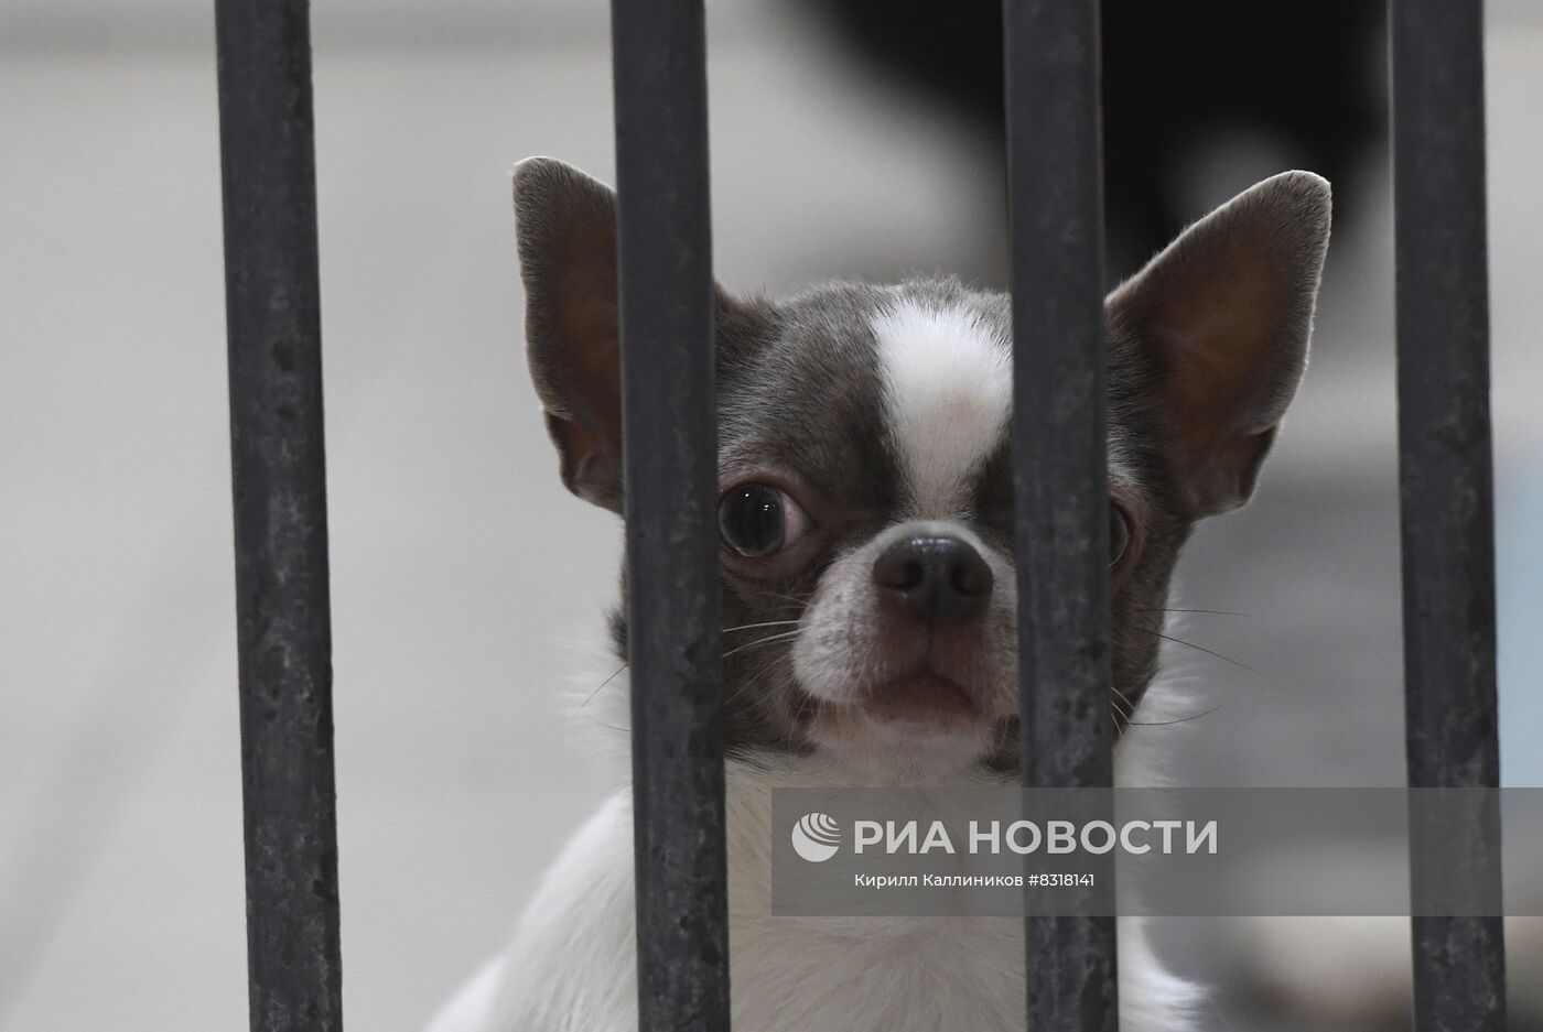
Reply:
[[[614, 196], [549, 159], [514, 194], [563, 481], [620, 512]], [[1248, 498], [1301, 379], [1329, 211], [1318, 176], [1275, 176], [1108, 299], [1117, 722], [1151, 680], [1179, 546]], [[1011, 363], [1008, 298], [952, 279], [717, 292], [731, 751], [1017, 765]]]

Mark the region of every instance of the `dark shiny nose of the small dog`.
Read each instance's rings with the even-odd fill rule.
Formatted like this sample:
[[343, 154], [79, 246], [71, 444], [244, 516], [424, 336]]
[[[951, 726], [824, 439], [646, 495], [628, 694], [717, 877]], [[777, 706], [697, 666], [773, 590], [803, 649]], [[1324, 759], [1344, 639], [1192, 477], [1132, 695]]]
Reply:
[[986, 609], [991, 566], [957, 537], [910, 537], [873, 563], [873, 583], [927, 623], [960, 623]]

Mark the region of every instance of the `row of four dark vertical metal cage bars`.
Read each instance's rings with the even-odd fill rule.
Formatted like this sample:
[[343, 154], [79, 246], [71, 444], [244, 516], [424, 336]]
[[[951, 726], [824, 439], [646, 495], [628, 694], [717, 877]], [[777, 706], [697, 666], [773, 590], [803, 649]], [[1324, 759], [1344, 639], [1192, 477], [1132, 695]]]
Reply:
[[[216, 15], [252, 1027], [335, 1030], [309, 11], [306, 0], [216, 0]], [[1109, 785], [1099, 5], [1006, 0], [1004, 19], [1021, 773], [1026, 785]], [[1483, 11], [1480, 0], [1392, 0], [1390, 22], [1409, 784], [1495, 787]], [[702, 0], [613, 0], [613, 56], [639, 1027], [722, 1032]], [[1086, 529], [1054, 531], [1068, 526]], [[1423, 835], [1412, 836], [1416, 893]], [[1497, 841], [1470, 838], [1467, 876], [1498, 885]], [[1026, 936], [1028, 1026], [1113, 1032], [1113, 918], [1028, 918]], [[1503, 1027], [1500, 918], [1416, 918], [1413, 964], [1420, 1032]]]

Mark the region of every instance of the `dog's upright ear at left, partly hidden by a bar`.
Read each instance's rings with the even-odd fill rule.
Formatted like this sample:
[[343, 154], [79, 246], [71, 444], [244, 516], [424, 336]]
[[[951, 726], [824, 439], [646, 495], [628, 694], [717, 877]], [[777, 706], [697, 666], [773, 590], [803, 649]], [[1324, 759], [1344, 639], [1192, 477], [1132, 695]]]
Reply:
[[622, 366], [616, 194], [551, 157], [514, 167], [531, 378], [563, 483], [622, 511]]

